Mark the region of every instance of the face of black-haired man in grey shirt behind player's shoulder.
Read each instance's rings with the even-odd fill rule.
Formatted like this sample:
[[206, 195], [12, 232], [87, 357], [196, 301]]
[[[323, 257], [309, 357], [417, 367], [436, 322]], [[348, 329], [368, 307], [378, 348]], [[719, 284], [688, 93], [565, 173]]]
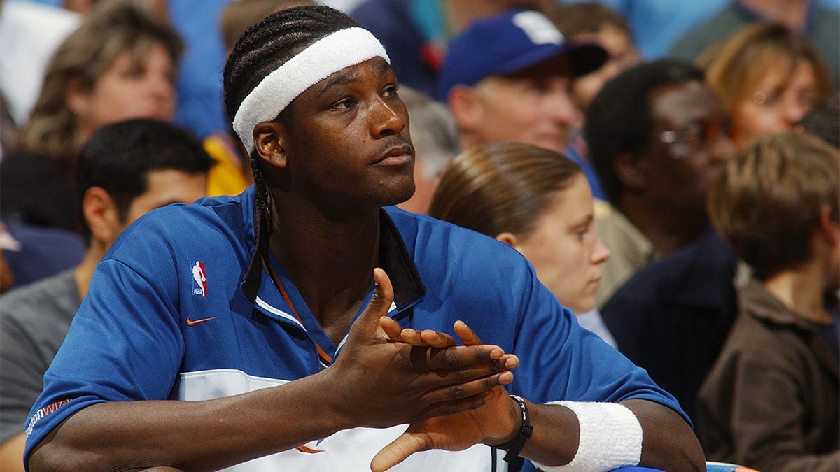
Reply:
[[[146, 179], [146, 191], [131, 201], [122, 229], [128, 228], [134, 220], [155, 208], [165, 207], [170, 203], [192, 203], [207, 197], [207, 174], [204, 173], [190, 174], [177, 169], [158, 169], [151, 170]], [[119, 233], [122, 233], [122, 229]]]

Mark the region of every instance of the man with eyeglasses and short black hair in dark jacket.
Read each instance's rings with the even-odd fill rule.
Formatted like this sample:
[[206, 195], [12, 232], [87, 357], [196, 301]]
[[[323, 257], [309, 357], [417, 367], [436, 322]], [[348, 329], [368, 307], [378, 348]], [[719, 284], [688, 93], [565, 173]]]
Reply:
[[612, 251], [601, 315], [622, 354], [689, 416], [736, 313], [737, 261], [706, 213], [708, 187], [735, 151], [727, 129], [703, 72], [679, 60], [623, 72], [586, 116], [610, 199], [596, 206], [596, 227]]

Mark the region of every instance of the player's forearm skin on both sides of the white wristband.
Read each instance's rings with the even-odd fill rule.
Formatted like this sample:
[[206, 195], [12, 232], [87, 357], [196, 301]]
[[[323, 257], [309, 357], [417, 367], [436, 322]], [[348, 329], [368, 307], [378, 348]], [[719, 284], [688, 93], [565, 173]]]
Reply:
[[[705, 468], [700, 443], [679, 414], [652, 401], [631, 400], [622, 405], [642, 426], [639, 465], [673, 472]], [[570, 463], [580, 445], [580, 423], [575, 412], [565, 406], [533, 404], [529, 404], [529, 412], [533, 436], [522, 449], [522, 457], [549, 466]]]

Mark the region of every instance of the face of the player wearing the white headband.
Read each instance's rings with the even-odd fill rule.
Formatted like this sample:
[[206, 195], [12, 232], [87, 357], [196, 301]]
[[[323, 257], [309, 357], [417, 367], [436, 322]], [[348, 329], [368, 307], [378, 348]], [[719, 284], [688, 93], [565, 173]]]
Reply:
[[408, 112], [385, 60], [328, 76], [290, 111], [281, 139], [291, 191], [332, 209], [393, 205], [412, 196]]

